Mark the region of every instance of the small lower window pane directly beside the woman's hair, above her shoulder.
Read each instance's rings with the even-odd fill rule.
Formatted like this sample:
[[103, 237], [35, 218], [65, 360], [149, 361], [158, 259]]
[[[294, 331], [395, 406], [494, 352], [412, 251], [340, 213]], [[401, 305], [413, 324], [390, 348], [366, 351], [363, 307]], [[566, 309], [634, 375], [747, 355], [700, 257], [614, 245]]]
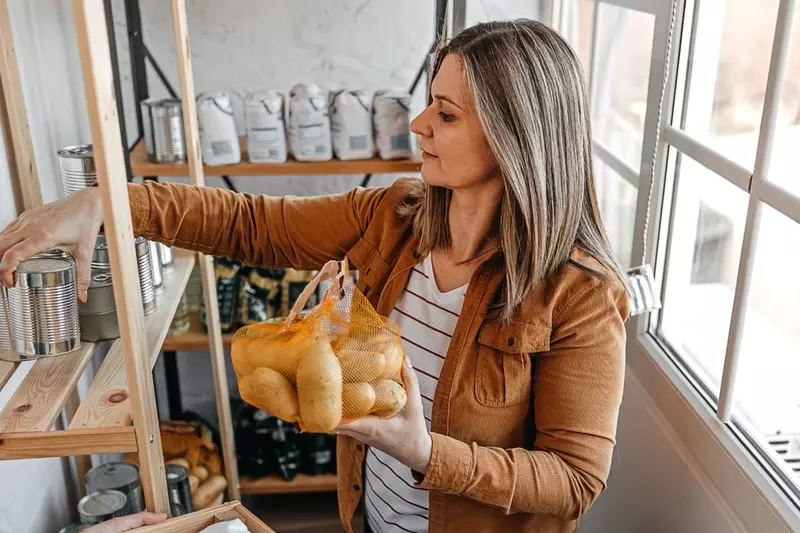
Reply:
[[631, 266], [636, 188], [595, 157], [595, 188], [603, 225], [623, 267]]

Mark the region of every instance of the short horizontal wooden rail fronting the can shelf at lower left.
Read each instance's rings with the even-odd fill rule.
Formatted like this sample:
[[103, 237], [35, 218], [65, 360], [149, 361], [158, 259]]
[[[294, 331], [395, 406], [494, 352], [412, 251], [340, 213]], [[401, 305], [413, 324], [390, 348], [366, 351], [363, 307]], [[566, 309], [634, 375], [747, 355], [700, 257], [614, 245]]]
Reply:
[[132, 426], [0, 433], [0, 461], [136, 451]]

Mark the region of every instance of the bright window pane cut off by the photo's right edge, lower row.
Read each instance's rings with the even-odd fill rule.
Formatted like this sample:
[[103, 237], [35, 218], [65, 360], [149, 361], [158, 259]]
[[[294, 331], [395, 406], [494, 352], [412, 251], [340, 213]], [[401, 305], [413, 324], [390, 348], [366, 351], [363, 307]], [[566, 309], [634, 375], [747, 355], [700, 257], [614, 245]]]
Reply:
[[[736, 407], [800, 485], [800, 224], [764, 206], [736, 374]], [[786, 444], [786, 441], [789, 444]]]

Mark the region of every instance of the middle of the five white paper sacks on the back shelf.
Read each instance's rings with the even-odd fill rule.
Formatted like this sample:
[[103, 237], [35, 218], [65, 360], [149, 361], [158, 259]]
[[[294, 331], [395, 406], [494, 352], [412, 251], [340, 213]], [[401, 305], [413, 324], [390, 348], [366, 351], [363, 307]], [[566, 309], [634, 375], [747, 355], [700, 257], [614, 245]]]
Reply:
[[333, 157], [328, 99], [314, 84], [298, 83], [289, 93], [289, 148], [298, 161], [328, 161]]

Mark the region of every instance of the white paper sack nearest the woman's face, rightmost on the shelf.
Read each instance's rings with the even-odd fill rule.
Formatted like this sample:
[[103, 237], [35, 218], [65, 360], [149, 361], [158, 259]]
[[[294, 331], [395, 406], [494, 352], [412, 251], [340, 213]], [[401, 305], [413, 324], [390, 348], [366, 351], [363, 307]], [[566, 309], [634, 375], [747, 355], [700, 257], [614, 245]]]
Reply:
[[372, 118], [375, 144], [381, 159], [411, 157], [411, 95], [404, 91], [375, 93]]

